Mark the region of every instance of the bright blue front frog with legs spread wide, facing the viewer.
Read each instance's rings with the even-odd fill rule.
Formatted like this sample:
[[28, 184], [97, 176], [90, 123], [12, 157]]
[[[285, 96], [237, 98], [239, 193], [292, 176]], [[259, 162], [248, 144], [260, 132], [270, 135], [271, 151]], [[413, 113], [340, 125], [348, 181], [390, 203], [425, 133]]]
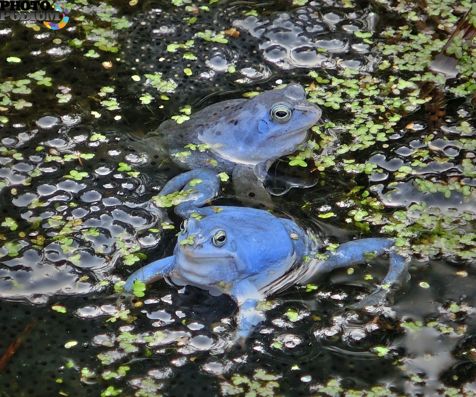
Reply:
[[385, 287], [379, 287], [363, 303], [384, 302], [388, 287], [406, 274], [405, 260], [396, 253], [392, 238], [350, 241], [336, 252], [326, 252], [325, 260], [306, 260], [314, 258], [318, 239], [289, 219], [255, 208], [200, 208], [215, 197], [218, 187], [218, 182], [184, 187], [184, 191], [193, 192], [175, 207], [185, 220], [173, 255], [131, 274], [124, 286], [127, 291], [136, 279], [149, 284], [162, 277], [175, 284], [218, 289], [238, 304], [236, 341], [246, 338], [263, 321], [257, 303], [268, 295], [294, 284], [307, 284], [318, 274], [365, 263], [367, 253], [382, 255], [389, 250], [390, 267], [382, 281]]

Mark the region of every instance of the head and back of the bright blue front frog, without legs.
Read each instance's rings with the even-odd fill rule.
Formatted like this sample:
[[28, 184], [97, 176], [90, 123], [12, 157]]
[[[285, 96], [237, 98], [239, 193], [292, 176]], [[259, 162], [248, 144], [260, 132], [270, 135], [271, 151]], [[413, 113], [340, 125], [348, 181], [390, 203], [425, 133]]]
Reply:
[[185, 220], [175, 255], [182, 278], [226, 289], [226, 284], [245, 278], [254, 282], [256, 274], [282, 274], [280, 267], [288, 265], [293, 246], [278, 218], [267, 211], [227, 207], [200, 220]]

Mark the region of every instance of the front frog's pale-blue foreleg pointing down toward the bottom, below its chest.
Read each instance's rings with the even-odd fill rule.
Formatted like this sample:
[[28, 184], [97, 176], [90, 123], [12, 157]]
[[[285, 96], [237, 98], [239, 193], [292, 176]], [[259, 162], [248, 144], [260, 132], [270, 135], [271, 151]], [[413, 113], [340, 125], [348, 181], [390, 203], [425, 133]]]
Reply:
[[233, 343], [243, 343], [256, 326], [266, 319], [264, 312], [256, 307], [258, 302], [264, 300], [264, 296], [248, 280], [236, 283], [231, 289], [230, 295], [238, 303], [237, 329]]

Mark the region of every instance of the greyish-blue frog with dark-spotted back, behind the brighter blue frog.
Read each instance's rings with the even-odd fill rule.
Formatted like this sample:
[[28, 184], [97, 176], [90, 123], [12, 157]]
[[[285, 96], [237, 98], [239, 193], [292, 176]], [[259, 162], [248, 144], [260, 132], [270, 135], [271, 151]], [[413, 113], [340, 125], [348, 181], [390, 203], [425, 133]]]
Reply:
[[169, 180], [162, 195], [177, 191], [198, 173], [208, 183], [226, 172], [232, 175], [237, 195], [252, 193], [251, 197], [269, 201], [263, 188], [269, 167], [306, 141], [321, 113], [307, 101], [301, 85], [288, 84], [248, 100], [212, 104], [181, 124], [165, 121], [143, 142], [190, 170]]

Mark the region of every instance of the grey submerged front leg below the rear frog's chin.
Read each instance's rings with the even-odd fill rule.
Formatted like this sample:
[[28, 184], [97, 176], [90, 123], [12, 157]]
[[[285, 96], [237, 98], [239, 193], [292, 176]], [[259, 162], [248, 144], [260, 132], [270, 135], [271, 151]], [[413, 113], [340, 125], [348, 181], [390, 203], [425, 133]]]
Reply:
[[[257, 164], [258, 166], [259, 164]], [[256, 168], [256, 166], [255, 166]], [[255, 173], [252, 167], [243, 164], [237, 164], [233, 169], [232, 179], [236, 195], [246, 199], [253, 199], [261, 204], [272, 204], [271, 196], [263, 186], [263, 170], [259, 174]], [[263, 180], [260, 177], [263, 176]]]

